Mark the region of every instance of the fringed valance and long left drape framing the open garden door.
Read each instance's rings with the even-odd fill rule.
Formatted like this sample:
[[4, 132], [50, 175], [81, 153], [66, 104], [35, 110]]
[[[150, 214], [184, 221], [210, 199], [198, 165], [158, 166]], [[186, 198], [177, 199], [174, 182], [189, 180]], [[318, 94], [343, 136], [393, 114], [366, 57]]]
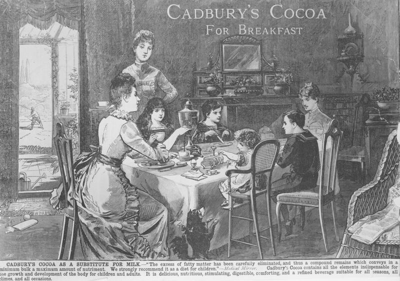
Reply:
[[79, 30], [82, 0], [0, 0], [0, 194], [17, 198], [19, 28], [57, 21]]

